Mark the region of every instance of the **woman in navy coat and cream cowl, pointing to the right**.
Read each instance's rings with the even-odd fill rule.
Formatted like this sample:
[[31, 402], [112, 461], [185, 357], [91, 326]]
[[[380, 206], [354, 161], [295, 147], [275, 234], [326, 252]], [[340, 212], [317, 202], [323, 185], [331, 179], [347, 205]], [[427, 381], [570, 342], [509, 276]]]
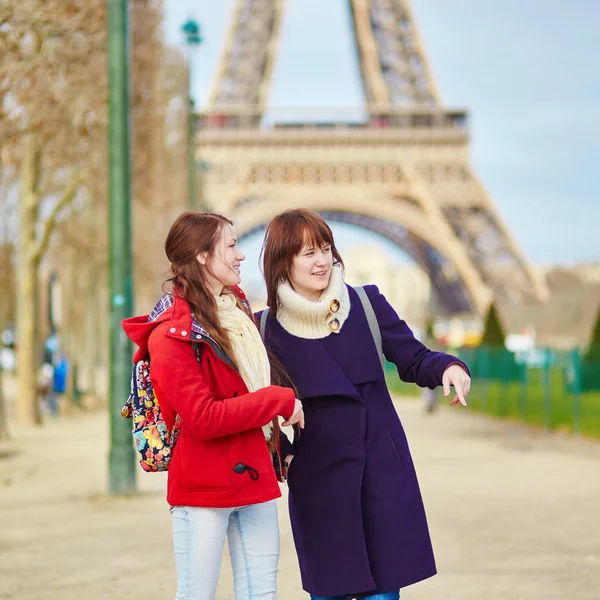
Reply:
[[[294, 444], [282, 444], [303, 588], [313, 600], [395, 600], [400, 588], [436, 568], [406, 435], [365, 310], [344, 283], [330, 228], [312, 211], [286, 211], [269, 224], [263, 266], [265, 343], [305, 413]], [[446, 395], [453, 385], [450, 404], [466, 404], [467, 367], [428, 350], [376, 286], [364, 289], [400, 378], [443, 385]]]

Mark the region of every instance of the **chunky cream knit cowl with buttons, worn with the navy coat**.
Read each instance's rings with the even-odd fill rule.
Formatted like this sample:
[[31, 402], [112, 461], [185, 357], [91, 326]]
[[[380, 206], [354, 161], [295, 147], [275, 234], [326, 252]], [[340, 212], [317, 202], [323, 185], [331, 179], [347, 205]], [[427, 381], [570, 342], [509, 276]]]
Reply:
[[[340, 265], [332, 268], [329, 284], [318, 300], [308, 300], [298, 294], [287, 281], [277, 288], [277, 297], [277, 320], [281, 326], [288, 333], [308, 340], [323, 339], [332, 333], [339, 333], [350, 313], [350, 297]], [[329, 310], [333, 300], [340, 303], [336, 313]], [[337, 331], [332, 331], [328, 326], [333, 318], [340, 323]]]

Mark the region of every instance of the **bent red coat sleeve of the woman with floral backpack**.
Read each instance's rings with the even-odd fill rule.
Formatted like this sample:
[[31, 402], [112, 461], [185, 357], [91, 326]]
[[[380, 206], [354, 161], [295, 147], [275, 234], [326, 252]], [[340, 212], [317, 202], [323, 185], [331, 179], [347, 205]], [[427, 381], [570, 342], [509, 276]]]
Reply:
[[200, 439], [211, 439], [266, 425], [294, 412], [293, 390], [269, 386], [234, 398], [217, 399], [198, 367], [191, 345], [155, 331], [149, 342], [152, 384]]

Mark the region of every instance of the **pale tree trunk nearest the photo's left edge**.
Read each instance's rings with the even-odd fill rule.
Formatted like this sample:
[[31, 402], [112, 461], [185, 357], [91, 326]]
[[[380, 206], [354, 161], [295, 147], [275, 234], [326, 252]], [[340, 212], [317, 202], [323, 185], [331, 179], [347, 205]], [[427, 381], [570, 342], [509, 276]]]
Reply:
[[39, 425], [38, 380], [38, 272], [36, 225], [39, 210], [40, 149], [37, 139], [25, 140], [21, 166], [17, 283], [17, 419], [23, 425]]

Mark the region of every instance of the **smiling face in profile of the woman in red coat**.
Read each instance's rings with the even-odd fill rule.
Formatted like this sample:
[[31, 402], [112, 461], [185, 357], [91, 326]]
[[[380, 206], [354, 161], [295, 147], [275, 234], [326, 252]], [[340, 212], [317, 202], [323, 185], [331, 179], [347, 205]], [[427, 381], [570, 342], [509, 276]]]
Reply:
[[224, 286], [240, 283], [240, 265], [246, 257], [239, 249], [233, 225], [225, 223], [221, 227], [215, 250], [211, 256], [200, 253], [196, 258], [201, 265], [207, 267], [208, 284], [215, 296], [221, 294]]

